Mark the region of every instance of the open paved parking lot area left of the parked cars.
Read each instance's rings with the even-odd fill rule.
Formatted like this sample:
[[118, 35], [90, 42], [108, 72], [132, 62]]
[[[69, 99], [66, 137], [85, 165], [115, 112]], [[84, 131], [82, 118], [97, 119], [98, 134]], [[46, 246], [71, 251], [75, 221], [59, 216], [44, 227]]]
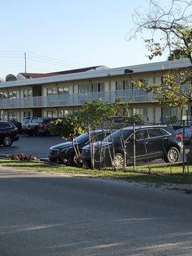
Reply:
[[56, 136], [28, 136], [20, 134], [19, 141], [13, 142], [11, 147], [0, 147], [0, 154], [33, 154], [36, 158], [48, 157], [49, 148], [52, 145], [63, 142]]

